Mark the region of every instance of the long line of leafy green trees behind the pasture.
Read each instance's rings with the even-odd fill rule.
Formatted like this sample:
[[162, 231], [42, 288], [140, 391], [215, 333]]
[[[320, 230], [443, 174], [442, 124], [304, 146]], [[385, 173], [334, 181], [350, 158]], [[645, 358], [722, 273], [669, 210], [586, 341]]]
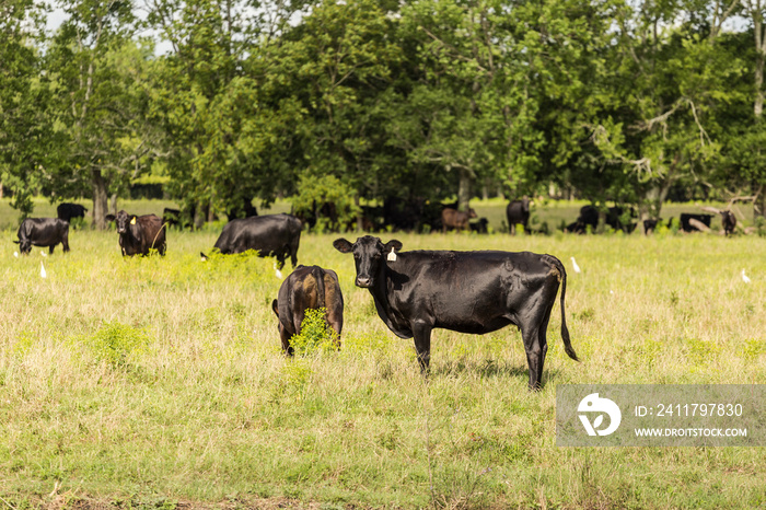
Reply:
[[[0, 0], [0, 181], [104, 216], [554, 193], [766, 209], [762, 0]], [[111, 202], [112, 201], [112, 207]]]

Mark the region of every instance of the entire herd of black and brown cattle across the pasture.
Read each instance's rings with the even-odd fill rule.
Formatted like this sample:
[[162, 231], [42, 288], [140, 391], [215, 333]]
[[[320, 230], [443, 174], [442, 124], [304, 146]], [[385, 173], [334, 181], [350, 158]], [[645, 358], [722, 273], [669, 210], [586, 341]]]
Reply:
[[[85, 212], [82, 206], [61, 204], [58, 218], [24, 220], [15, 242], [22, 254], [28, 254], [32, 245], [48, 246], [53, 253], [59, 243], [68, 252], [69, 222], [73, 218], [84, 218]], [[255, 250], [259, 256], [276, 257], [279, 269], [290, 258], [294, 270], [285, 279], [277, 299], [271, 303], [278, 316], [285, 352], [293, 352], [290, 339], [300, 333], [309, 309], [324, 308], [327, 324], [339, 338], [344, 299], [337, 274], [320, 266], [295, 267], [302, 221], [286, 213], [257, 216], [257, 212], [253, 212], [227, 223], [213, 248], [221, 254]], [[736, 224], [733, 215], [729, 211], [720, 213], [726, 232], [733, 232]], [[606, 224], [627, 231], [628, 227], [622, 223], [624, 217], [620, 208], [611, 208], [606, 213]], [[442, 231], [466, 230], [473, 224], [469, 220], [475, 218], [473, 210], [463, 212], [453, 207], [442, 208]], [[530, 200], [511, 201], [507, 207], [507, 218], [511, 233], [514, 233], [518, 224], [529, 232]], [[712, 215], [685, 213], [681, 216], [681, 228], [684, 231], [704, 230], [710, 227], [711, 218]], [[166, 218], [129, 215], [123, 210], [112, 220], [124, 256], [148, 255], [151, 251], [165, 254]], [[478, 224], [486, 232], [487, 222], [483, 220]], [[599, 210], [585, 206], [567, 230], [585, 233], [594, 231], [597, 222]], [[408, 224], [415, 227], [415, 223]], [[645, 230], [650, 231], [657, 224], [645, 224]], [[578, 360], [565, 316], [567, 273], [561, 262], [552, 255], [498, 251], [401, 252], [399, 241], [391, 240], [383, 244], [380, 237], [372, 235], [359, 237], [355, 243], [337, 239], [333, 246], [341, 253], [353, 254], [356, 286], [369, 290], [379, 316], [395, 335], [415, 339], [417, 359], [423, 372], [429, 369], [432, 329], [485, 334], [513, 324], [521, 331], [526, 351], [529, 386], [531, 390], [539, 389], [548, 348], [548, 321], [559, 286], [561, 339], [567, 355]], [[206, 258], [205, 254], [202, 258]]]

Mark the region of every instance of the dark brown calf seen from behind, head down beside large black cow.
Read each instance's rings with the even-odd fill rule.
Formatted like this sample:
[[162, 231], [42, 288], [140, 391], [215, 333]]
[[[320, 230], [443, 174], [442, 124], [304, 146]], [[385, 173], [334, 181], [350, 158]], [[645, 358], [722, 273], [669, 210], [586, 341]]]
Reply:
[[271, 309], [279, 317], [279, 336], [282, 339], [285, 352], [292, 356], [290, 338], [301, 333], [305, 311], [321, 308], [326, 310], [327, 324], [338, 334], [337, 346], [340, 348], [344, 297], [340, 292], [338, 275], [332, 269], [323, 269], [320, 266], [298, 266], [285, 279], [277, 299], [271, 302]]

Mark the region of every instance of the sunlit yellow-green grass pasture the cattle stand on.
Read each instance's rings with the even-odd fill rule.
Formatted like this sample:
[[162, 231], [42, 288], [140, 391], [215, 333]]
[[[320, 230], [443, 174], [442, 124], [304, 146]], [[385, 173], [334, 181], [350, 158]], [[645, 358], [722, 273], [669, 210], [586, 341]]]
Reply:
[[511, 327], [436, 331], [423, 379], [338, 235], [304, 234], [299, 263], [338, 273], [343, 349], [286, 359], [272, 260], [200, 262], [219, 229], [171, 231], [167, 256], [135, 259], [90, 229], [67, 255], [15, 258], [4, 230], [1, 507], [766, 506], [763, 448], [555, 445], [558, 384], [766, 383], [765, 239], [384, 234], [405, 251], [577, 258], [566, 313], [583, 361], [564, 352], [557, 301], [533, 394]]

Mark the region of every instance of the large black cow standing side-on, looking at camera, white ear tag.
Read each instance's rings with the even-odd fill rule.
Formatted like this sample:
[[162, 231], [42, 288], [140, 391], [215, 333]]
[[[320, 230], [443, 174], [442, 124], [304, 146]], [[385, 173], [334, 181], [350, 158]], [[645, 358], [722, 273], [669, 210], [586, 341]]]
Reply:
[[415, 337], [420, 369], [428, 371], [434, 327], [484, 334], [514, 324], [521, 329], [530, 367], [530, 389], [541, 387], [548, 350], [546, 331], [561, 285], [561, 338], [577, 355], [564, 315], [567, 271], [550, 255], [530, 252], [414, 251], [395, 253], [402, 243], [383, 244], [365, 235], [333, 246], [353, 253], [357, 287], [367, 288], [378, 315], [401, 338]]

